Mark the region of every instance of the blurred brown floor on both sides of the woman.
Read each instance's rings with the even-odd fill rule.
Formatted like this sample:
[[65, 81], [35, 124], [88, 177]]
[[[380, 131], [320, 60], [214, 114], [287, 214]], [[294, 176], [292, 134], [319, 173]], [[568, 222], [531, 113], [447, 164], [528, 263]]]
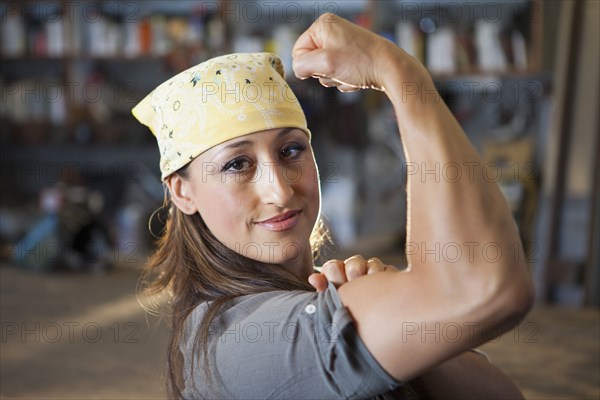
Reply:
[[[139, 306], [138, 275], [0, 266], [0, 397], [164, 398], [167, 330]], [[483, 349], [528, 399], [599, 399], [599, 337], [598, 310], [538, 308]]]

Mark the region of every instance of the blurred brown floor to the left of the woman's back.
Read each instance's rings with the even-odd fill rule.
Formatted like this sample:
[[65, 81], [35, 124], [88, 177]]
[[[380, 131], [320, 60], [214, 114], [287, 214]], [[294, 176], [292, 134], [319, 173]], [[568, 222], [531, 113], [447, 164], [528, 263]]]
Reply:
[[138, 276], [1, 267], [1, 397], [165, 398], [167, 330], [146, 322]]

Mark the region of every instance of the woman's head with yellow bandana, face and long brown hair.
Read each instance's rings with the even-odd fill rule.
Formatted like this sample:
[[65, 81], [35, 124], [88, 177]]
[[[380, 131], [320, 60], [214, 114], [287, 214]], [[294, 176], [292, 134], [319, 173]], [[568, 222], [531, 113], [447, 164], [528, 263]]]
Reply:
[[[221, 308], [263, 292], [310, 294], [307, 277], [328, 238], [311, 132], [279, 58], [268, 53], [206, 61], [163, 83], [133, 113], [157, 138], [170, 209], [143, 283], [149, 293], [172, 295], [169, 392], [197, 397], [212, 370], [184, 380], [184, 365], [193, 369], [198, 343], [208, 358]], [[209, 306], [196, 334], [184, 336], [200, 305]], [[193, 352], [182, 353], [190, 337]]]

